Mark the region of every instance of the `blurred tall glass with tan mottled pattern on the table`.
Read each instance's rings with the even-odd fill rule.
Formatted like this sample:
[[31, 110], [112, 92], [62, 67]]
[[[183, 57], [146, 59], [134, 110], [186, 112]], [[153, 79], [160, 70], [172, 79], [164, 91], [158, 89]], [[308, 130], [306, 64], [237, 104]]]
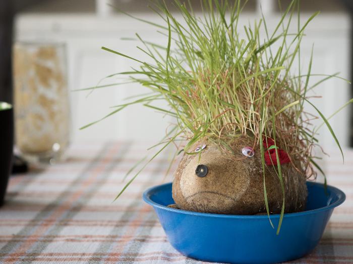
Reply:
[[70, 142], [65, 44], [16, 43], [13, 75], [17, 149], [29, 161], [60, 159]]

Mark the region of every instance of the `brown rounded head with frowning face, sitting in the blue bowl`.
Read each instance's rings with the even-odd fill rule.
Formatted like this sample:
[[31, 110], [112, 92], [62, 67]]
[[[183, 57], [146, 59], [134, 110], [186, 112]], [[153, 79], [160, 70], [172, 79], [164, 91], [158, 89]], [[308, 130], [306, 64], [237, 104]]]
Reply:
[[[217, 214], [264, 212], [260, 151], [255, 150], [252, 157], [242, 153], [242, 148], [250, 143], [232, 143], [233, 153], [222, 150], [216, 144], [207, 144], [201, 156], [184, 155], [175, 172], [172, 188], [173, 199], [179, 208]], [[291, 169], [290, 164], [282, 167], [285, 185], [293, 189], [288, 191], [288, 195], [295, 196], [287, 199], [287, 212], [303, 209], [306, 200], [305, 178]], [[270, 210], [277, 213], [283, 199], [279, 179], [274, 168], [266, 168], [265, 174]]]

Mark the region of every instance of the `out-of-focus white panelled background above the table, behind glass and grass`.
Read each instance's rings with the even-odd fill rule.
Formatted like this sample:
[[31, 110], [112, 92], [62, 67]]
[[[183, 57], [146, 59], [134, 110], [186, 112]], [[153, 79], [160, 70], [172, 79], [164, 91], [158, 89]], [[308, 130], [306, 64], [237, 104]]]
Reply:
[[[114, 11], [107, 3], [128, 13], [152, 22], [160, 18], [150, 11], [145, 0], [27, 0], [0, 2], [0, 101], [12, 100], [11, 84], [11, 47], [14, 42], [60, 42], [66, 46], [67, 81], [71, 106], [71, 140], [89, 142], [102, 140], [148, 140], [158, 141], [165, 133], [165, 127], [171, 120], [163, 118], [152, 109], [134, 106], [116, 116], [96, 124], [88, 129], [79, 130], [111, 111], [110, 106], [124, 103], [124, 99], [139, 93], [146, 93], [136, 84], [106, 87], [93, 93], [72, 92], [99, 84], [119, 82], [119, 79], [105, 76], [129, 70], [136, 64], [100, 49], [101, 46], [119, 50], [122, 53], [139, 56], [138, 42], [124, 38], [135, 37], [138, 32], [147, 40], [165, 45], [165, 37], [156, 32], [156, 28], [139, 22]], [[192, 1], [196, 11], [201, 11], [199, 0]], [[280, 1], [284, 9], [289, 0]], [[253, 23], [260, 18], [260, 5], [267, 20], [267, 26], [273, 28], [280, 17], [275, 0], [250, 0], [241, 23]], [[306, 30], [302, 45], [302, 72], [307, 64], [314, 45], [312, 73], [334, 74], [351, 79], [352, 42], [351, 14], [353, 4], [349, 0], [313, 0], [301, 3], [303, 21], [313, 12], [320, 10]], [[296, 29], [296, 22], [293, 22]], [[298, 69], [297, 69], [298, 70]], [[297, 71], [298, 73], [298, 71]], [[293, 73], [295, 74], [295, 73]], [[322, 78], [322, 77], [320, 77]], [[314, 83], [319, 77], [313, 77]], [[352, 97], [351, 86], [340, 79], [330, 79], [317, 87], [313, 102], [330, 116], [339, 106]], [[312, 112], [312, 110], [309, 110]], [[345, 108], [330, 123], [342, 146], [352, 145], [353, 129], [351, 110]], [[323, 147], [334, 145], [334, 141], [323, 129], [319, 138]]]

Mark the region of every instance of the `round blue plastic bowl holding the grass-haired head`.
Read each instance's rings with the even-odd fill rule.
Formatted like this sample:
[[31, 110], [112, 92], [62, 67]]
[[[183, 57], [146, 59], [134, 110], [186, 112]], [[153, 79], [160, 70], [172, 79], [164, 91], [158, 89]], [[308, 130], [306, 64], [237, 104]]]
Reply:
[[[267, 215], [220, 215], [167, 207], [173, 204], [171, 183], [148, 189], [152, 205], [170, 244], [183, 255], [225, 263], [277, 263], [303, 257], [319, 243], [333, 209], [344, 202], [342, 191], [307, 182], [306, 211], [285, 214], [278, 235]], [[270, 216], [275, 227], [279, 215]]]

